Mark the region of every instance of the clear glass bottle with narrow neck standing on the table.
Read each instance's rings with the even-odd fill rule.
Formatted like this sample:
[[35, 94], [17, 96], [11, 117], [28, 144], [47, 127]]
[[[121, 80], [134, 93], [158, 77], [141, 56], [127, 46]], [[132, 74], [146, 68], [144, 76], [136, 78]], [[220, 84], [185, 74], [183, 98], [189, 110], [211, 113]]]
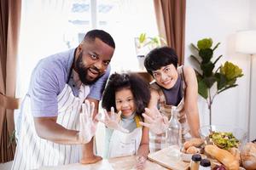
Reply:
[[166, 129], [166, 147], [178, 145], [181, 148], [182, 146], [182, 127], [177, 120], [177, 114], [177, 107], [172, 106], [172, 116]]

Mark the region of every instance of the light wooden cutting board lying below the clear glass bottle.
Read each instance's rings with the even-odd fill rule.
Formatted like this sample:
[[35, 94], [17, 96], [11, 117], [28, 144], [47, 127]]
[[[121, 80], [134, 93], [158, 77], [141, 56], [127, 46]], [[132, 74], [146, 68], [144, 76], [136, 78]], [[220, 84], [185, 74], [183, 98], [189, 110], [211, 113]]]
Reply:
[[148, 155], [148, 159], [159, 163], [163, 167], [173, 170], [189, 169], [189, 162], [182, 161], [180, 156], [177, 156], [178, 153], [180, 153], [179, 149], [176, 146], [171, 146], [163, 150], [150, 153]]

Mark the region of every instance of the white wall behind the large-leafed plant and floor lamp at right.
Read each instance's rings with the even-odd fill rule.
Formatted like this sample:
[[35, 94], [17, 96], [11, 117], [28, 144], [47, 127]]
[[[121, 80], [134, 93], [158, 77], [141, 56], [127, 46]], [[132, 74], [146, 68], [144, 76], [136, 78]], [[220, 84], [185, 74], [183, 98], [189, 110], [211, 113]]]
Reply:
[[[212, 104], [212, 124], [234, 125], [247, 129], [248, 94], [249, 94], [249, 56], [237, 54], [235, 49], [236, 31], [247, 30], [256, 26], [254, 19], [256, 1], [253, 0], [189, 0], [186, 7], [185, 65], [192, 65], [189, 45], [204, 37], [212, 37], [213, 45], [221, 42], [214, 52], [215, 59], [223, 54], [218, 65], [230, 60], [239, 65], [244, 77], [238, 79], [239, 86], [218, 94]], [[250, 12], [251, 11], [251, 12]], [[254, 14], [253, 14], [254, 13]], [[255, 66], [254, 66], [255, 67]], [[256, 68], [253, 68], [254, 70]], [[255, 78], [255, 75], [253, 76]], [[255, 86], [254, 86], [255, 87]], [[255, 89], [254, 89], [255, 94]], [[253, 94], [252, 94], [253, 96]], [[255, 99], [254, 103], [255, 103]], [[253, 101], [252, 101], [253, 103]], [[201, 125], [208, 124], [208, 109], [204, 99], [199, 97]], [[254, 110], [254, 115], [255, 115]], [[256, 120], [256, 118], [254, 118]], [[253, 122], [253, 120], [252, 120]], [[254, 121], [254, 124], [256, 122]], [[253, 128], [253, 123], [252, 127]], [[255, 126], [254, 126], [255, 128]], [[251, 133], [251, 139], [256, 133]]]

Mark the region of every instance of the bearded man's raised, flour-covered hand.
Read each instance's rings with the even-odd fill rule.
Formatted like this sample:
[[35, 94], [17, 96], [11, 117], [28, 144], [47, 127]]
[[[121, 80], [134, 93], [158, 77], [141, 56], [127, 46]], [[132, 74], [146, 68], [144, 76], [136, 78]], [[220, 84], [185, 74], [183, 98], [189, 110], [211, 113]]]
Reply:
[[79, 142], [80, 144], [86, 144], [90, 142], [90, 139], [96, 133], [97, 121], [93, 120], [95, 104], [85, 100], [85, 104], [82, 104], [82, 113], [80, 113], [80, 129], [79, 129]]

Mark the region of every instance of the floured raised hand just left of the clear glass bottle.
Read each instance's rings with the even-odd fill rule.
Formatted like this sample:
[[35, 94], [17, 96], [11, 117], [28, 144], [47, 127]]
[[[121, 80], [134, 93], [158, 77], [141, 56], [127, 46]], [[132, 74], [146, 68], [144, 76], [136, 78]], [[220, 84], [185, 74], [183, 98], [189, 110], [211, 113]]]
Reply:
[[154, 108], [154, 113], [148, 108], [145, 108], [143, 117], [145, 122], [139, 122], [142, 126], [148, 127], [153, 133], [160, 134], [165, 133], [168, 127], [168, 118], [162, 116], [157, 108]]

